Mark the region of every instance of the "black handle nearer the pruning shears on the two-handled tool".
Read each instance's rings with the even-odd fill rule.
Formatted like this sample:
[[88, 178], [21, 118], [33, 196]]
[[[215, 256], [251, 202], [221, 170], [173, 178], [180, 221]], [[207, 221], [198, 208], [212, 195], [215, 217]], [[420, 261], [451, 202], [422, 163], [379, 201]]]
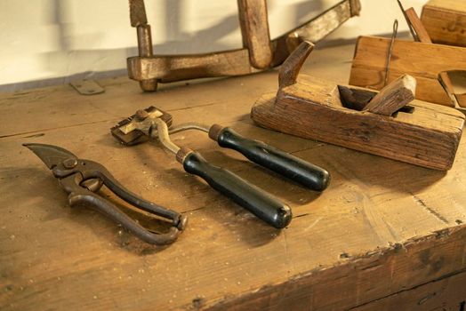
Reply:
[[184, 156], [182, 163], [185, 171], [205, 179], [215, 190], [228, 196], [269, 225], [283, 228], [290, 223], [292, 212], [288, 205], [231, 171], [208, 163], [197, 152], [189, 152]]

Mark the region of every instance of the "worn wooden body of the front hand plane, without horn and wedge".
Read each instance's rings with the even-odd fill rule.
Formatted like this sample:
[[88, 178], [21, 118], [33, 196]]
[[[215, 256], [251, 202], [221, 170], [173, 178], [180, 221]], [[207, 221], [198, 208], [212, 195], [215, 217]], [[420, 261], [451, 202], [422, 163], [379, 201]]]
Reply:
[[336, 84], [301, 75], [277, 98], [262, 96], [251, 116], [261, 126], [302, 138], [432, 169], [451, 168], [464, 124], [461, 112], [414, 100], [413, 113], [382, 116], [344, 108], [339, 97]]

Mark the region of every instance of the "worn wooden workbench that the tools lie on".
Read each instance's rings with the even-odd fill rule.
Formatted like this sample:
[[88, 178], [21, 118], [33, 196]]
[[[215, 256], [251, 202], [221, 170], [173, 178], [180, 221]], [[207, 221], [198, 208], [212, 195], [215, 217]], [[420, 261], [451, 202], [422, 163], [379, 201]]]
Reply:
[[[346, 83], [352, 53], [317, 50], [302, 72]], [[0, 96], [1, 310], [464, 308], [464, 138], [442, 172], [269, 132], [248, 113], [277, 89], [277, 71], [157, 93], [125, 77], [99, 83], [105, 93], [94, 96], [68, 85]], [[331, 185], [319, 195], [204, 133], [173, 136], [293, 207], [289, 227], [269, 227], [182, 171], [157, 142], [118, 145], [108, 129], [149, 105], [174, 124], [225, 124], [265, 140], [325, 167]], [[173, 245], [152, 247], [94, 211], [70, 209], [24, 142], [103, 163], [134, 192], [188, 215], [188, 228]]]

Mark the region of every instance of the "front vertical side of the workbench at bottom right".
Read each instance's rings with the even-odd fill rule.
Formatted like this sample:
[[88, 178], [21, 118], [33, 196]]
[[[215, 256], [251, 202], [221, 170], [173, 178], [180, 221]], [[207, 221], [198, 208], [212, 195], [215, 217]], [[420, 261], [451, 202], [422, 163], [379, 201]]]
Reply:
[[[300, 275], [285, 284], [270, 285], [258, 292], [253, 292], [245, 299], [231, 299], [224, 301], [212, 310], [434, 310], [435, 307], [459, 308], [466, 298], [465, 270], [461, 270], [448, 277], [439, 277], [428, 283], [414, 287], [406, 287], [398, 293], [382, 297], [381, 299], [366, 299], [382, 287], [397, 287], [398, 275], [409, 275], [407, 267], [422, 265], [429, 262], [430, 273], [445, 260], [442, 255], [430, 252], [430, 243], [446, 232], [438, 232], [422, 239], [413, 239], [403, 244], [396, 244], [381, 250], [381, 253], [367, 253], [357, 261], [348, 260], [341, 265], [342, 274], [335, 275], [333, 269], [311, 271], [309, 275]], [[448, 234], [450, 235], [450, 234]], [[448, 243], [443, 251], [454, 251], [454, 247], [464, 247], [461, 241], [466, 235], [455, 233], [454, 242]], [[452, 236], [453, 237], [453, 236]], [[351, 258], [351, 255], [348, 254]], [[457, 258], [459, 259], [459, 258]], [[351, 286], [346, 280], [355, 278], [358, 285]], [[377, 280], [377, 281], [375, 281]], [[386, 282], [382, 282], [386, 280]], [[318, 288], [318, 295], [311, 292]], [[350, 295], [341, 293], [353, 293]], [[436, 295], [438, 295], [436, 297]], [[350, 299], [349, 299], [350, 298]], [[366, 301], [366, 302], [363, 302]], [[363, 302], [361, 304], [361, 302]], [[318, 306], [318, 307], [316, 307]], [[357, 306], [357, 307], [349, 307]], [[458, 307], [455, 309], [454, 307]]]

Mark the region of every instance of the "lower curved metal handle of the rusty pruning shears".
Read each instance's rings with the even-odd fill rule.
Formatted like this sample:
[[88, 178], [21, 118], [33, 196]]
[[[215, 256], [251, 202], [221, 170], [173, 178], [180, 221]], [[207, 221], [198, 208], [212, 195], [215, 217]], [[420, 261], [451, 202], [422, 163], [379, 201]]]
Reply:
[[108, 202], [108, 200], [102, 198], [100, 195], [96, 195], [92, 191], [83, 187], [76, 187], [76, 174], [60, 179], [60, 183], [65, 187], [65, 189], [72, 189], [72, 191], [68, 191], [69, 206], [74, 207], [79, 203], [84, 203], [96, 211], [100, 211], [108, 218], [120, 223], [123, 227], [132, 232], [133, 235], [136, 235], [144, 242], [156, 245], [166, 245], [173, 243], [181, 233], [181, 230], [178, 227], [171, 227], [165, 234], [155, 234], [150, 232], [147, 228], [142, 227], [123, 211], [120, 211], [113, 203]]

